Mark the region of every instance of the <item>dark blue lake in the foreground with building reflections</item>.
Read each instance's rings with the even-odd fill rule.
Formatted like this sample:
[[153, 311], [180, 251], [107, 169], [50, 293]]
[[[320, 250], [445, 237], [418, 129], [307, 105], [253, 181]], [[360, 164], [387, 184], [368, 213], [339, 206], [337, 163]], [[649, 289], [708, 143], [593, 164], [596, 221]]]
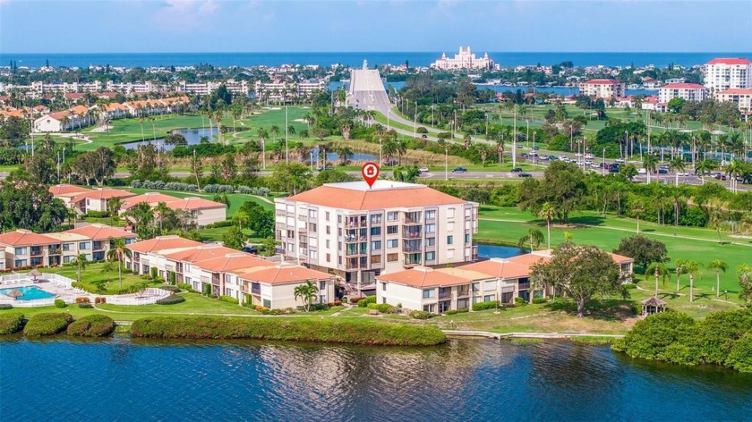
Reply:
[[752, 376], [605, 346], [0, 340], [0, 419], [741, 420]]

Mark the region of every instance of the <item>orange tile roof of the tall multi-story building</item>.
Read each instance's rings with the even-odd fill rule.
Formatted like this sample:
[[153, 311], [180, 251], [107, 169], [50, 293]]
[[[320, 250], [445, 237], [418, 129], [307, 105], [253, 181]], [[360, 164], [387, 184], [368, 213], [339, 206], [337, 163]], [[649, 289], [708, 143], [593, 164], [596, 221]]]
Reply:
[[[377, 182], [383, 182], [383, 186], [389, 183], [388, 181]], [[466, 204], [466, 201], [463, 199], [455, 198], [423, 185], [404, 183], [394, 189], [348, 189], [351, 186], [355, 186], [352, 183], [362, 183], [365, 185], [364, 181], [325, 184], [319, 188], [307, 190], [286, 199], [324, 207], [351, 210]]]

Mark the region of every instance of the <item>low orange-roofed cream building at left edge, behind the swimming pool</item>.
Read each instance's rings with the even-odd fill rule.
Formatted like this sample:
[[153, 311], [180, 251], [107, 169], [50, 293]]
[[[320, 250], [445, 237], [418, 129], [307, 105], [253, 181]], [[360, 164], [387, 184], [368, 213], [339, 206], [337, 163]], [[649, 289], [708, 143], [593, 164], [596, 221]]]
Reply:
[[35, 233], [16, 230], [0, 234], [0, 251], [4, 266], [13, 269], [27, 266], [61, 266], [84, 254], [88, 261], [107, 257], [113, 239], [132, 243], [136, 234], [104, 224], [90, 224], [65, 232]]

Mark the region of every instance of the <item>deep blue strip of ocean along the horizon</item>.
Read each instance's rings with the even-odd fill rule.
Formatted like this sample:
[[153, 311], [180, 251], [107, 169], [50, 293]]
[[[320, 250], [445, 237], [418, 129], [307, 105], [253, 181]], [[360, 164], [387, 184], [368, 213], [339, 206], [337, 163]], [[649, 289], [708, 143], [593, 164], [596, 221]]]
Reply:
[[[446, 51], [454, 55], [454, 48]], [[483, 55], [484, 52], [476, 52]], [[0, 52], [0, 65], [7, 66], [11, 60], [18, 66], [40, 67], [46, 61], [53, 66], [86, 67], [89, 65], [110, 66], [186, 66], [210, 63], [215, 66], [277, 66], [280, 64], [318, 64], [329, 66], [341, 63], [350, 66], [363, 64], [403, 64], [428, 66], [440, 58], [441, 52], [329, 52], [329, 53], [4, 53]], [[551, 65], [571, 61], [576, 66], [666, 66], [681, 64], [692, 66], [707, 63], [714, 57], [749, 57], [750, 52], [714, 53], [535, 53], [535, 52], [489, 52], [489, 56], [502, 66]]]

